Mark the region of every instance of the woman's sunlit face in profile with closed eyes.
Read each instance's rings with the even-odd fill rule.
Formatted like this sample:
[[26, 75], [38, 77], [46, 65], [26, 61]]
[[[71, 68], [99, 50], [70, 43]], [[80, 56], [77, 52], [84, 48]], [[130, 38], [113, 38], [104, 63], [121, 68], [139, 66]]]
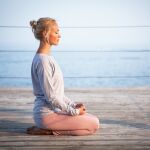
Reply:
[[60, 39], [59, 28], [58, 25], [56, 24], [51, 28], [49, 34], [49, 43], [51, 45], [58, 45], [59, 39]]

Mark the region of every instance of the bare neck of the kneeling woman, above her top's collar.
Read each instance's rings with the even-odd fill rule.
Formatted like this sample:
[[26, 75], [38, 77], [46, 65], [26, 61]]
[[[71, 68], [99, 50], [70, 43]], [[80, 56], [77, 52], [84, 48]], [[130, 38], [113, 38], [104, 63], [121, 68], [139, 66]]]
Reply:
[[44, 54], [50, 54], [52, 45], [49, 45], [46, 42], [40, 41], [39, 48], [37, 50], [37, 53], [44, 53]]

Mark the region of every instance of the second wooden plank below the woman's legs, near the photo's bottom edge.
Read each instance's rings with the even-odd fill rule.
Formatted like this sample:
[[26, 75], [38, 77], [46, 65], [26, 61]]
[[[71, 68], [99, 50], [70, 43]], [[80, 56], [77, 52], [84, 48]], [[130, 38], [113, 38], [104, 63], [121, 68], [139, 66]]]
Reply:
[[6, 146], [41, 146], [41, 145], [47, 145], [47, 146], [65, 146], [65, 145], [71, 145], [71, 146], [78, 146], [78, 145], [86, 145], [86, 146], [94, 146], [94, 145], [126, 145], [128, 144], [133, 146], [133, 145], [148, 145], [149, 144], [149, 140], [144, 139], [144, 140], [134, 140], [134, 139], [120, 139], [120, 140], [111, 140], [111, 139], [104, 139], [104, 140], [63, 140], [63, 141], [51, 141], [51, 140], [44, 140], [44, 141], [18, 141], [18, 142], [0, 142], [1, 147], [6, 147]]

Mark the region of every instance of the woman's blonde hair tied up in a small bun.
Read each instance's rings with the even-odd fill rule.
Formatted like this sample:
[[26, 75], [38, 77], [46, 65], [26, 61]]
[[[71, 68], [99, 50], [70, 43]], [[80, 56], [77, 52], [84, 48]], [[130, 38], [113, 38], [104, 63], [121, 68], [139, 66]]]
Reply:
[[40, 18], [38, 21], [32, 20], [30, 21], [30, 26], [32, 27], [32, 31], [34, 36], [38, 40], [43, 39], [43, 31], [48, 33], [53, 25], [56, 25], [56, 20], [52, 18]]

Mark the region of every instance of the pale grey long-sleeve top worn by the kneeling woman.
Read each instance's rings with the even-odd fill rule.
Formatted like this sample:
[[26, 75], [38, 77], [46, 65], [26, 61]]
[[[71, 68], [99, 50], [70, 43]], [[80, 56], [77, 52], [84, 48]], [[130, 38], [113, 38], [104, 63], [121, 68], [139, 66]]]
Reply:
[[34, 101], [34, 116], [49, 113], [78, 115], [75, 103], [64, 95], [64, 81], [61, 69], [54, 57], [38, 53], [31, 67]]

